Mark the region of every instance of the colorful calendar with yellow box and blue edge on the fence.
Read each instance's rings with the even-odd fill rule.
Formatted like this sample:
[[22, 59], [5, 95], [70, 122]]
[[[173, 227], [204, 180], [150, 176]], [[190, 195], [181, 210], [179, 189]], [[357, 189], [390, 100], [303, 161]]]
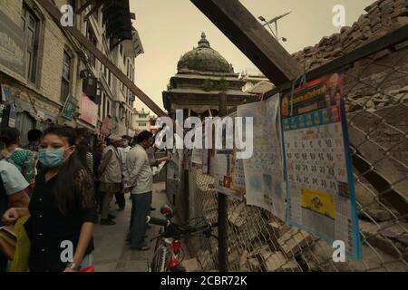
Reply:
[[280, 108], [288, 223], [330, 245], [343, 241], [348, 256], [360, 260], [342, 75], [328, 75], [284, 93]]

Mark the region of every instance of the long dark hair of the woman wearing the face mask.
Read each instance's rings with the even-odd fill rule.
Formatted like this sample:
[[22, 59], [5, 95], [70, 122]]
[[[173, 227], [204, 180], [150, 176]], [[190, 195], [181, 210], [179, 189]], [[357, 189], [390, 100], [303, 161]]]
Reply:
[[[46, 135], [56, 135], [66, 139], [69, 146], [76, 145], [76, 132], [69, 126], [50, 127], [44, 131], [43, 138]], [[77, 192], [79, 191], [78, 186], [80, 185], [78, 185], [75, 180], [78, 179], [78, 176], [83, 172], [87, 173], [87, 170], [79, 160], [77, 150], [74, 150], [73, 154], [65, 162], [63, 168], [59, 172], [53, 190], [58, 209], [63, 215], [68, 215], [68, 213], [72, 211], [74, 205], [78, 202], [79, 197]]]

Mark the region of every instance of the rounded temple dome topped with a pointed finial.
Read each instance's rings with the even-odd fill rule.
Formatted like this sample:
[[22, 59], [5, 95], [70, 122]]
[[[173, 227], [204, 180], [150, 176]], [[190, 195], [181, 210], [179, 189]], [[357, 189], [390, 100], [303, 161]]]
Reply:
[[179, 71], [191, 70], [213, 73], [234, 73], [232, 65], [230, 65], [221, 54], [209, 46], [209, 41], [204, 33], [201, 34], [199, 46], [181, 57], [177, 64], [177, 69]]

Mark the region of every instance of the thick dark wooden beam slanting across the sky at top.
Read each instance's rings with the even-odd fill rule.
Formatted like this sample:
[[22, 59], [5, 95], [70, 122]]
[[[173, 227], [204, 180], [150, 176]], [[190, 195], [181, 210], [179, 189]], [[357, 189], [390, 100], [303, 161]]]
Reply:
[[238, 0], [190, 0], [275, 85], [303, 73], [299, 63]]

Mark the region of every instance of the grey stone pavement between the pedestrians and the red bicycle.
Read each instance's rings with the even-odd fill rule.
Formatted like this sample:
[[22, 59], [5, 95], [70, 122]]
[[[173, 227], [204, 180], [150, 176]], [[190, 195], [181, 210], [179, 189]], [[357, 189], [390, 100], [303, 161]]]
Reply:
[[[164, 191], [165, 183], [158, 182], [153, 184], [153, 217], [160, 218], [160, 208], [168, 203], [167, 195]], [[148, 229], [148, 238], [146, 242], [151, 247], [150, 251], [132, 251], [126, 243], [125, 238], [129, 230], [131, 219], [131, 200], [126, 195], [126, 209], [118, 212], [117, 205], [112, 201], [112, 214], [116, 216], [116, 225], [95, 227], [93, 252], [93, 264], [96, 272], [145, 272], [147, 261], [153, 256], [155, 241], [151, 242], [152, 237], [156, 237], [160, 227], [151, 226]]]

